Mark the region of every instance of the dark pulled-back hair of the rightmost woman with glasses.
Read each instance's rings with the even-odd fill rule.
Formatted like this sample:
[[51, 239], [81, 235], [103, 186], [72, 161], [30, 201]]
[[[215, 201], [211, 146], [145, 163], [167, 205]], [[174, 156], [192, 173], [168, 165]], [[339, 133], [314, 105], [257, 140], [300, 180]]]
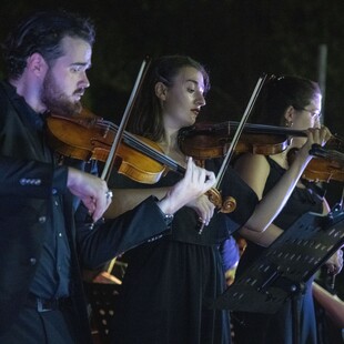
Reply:
[[312, 80], [293, 75], [280, 78], [273, 75], [262, 89], [253, 122], [270, 125], [284, 124], [284, 112], [289, 107], [302, 110], [317, 94], [321, 94], [321, 89]]

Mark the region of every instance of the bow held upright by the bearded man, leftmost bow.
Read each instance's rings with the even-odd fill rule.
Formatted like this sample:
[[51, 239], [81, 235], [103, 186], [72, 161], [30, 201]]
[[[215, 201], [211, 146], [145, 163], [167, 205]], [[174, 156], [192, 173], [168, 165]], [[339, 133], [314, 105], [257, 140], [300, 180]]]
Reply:
[[105, 161], [105, 164], [104, 164], [104, 168], [103, 168], [103, 171], [102, 171], [102, 174], [101, 174], [101, 179], [102, 180], [108, 181], [109, 178], [110, 178], [110, 173], [111, 173], [112, 168], [113, 168], [113, 163], [114, 163], [115, 155], [118, 153], [118, 150], [119, 150], [119, 146], [120, 146], [120, 143], [121, 143], [121, 140], [122, 140], [122, 135], [123, 135], [124, 129], [127, 127], [127, 123], [128, 123], [128, 120], [129, 120], [132, 107], [134, 104], [134, 101], [135, 101], [135, 99], [138, 97], [139, 90], [140, 90], [140, 88], [142, 85], [144, 75], [145, 75], [145, 73], [146, 73], [146, 71], [149, 69], [150, 61], [151, 60], [149, 58], [145, 58], [142, 61], [142, 63], [141, 63], [141, 68], [140, 68], [140, 71], [138, 73], [134, 87], [133, 87], [133, 89], [131, 91], [131, 94], [130, 94], [128, 104], [125, 107], [125, 110], [124, 110], [121, 123], [118, 127], [118, 131], [117, 131], [115, 138], [113, 140], [113, 143], [112, 143], [110, 152], [109, 152], [109, 156], [108, 156], [108, 159]]

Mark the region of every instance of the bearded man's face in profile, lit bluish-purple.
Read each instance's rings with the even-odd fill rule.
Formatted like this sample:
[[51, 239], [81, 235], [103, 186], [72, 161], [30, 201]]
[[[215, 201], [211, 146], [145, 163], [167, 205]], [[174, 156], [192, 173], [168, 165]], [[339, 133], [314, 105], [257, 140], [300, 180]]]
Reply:
[[82, 39], [65, 37], [64, 54], [47, 71], [41, 100], [53, 114], [71, 117], [82, 109], [80, 99], [90, 85], [87, 70], [91, 67], [91, 45]]

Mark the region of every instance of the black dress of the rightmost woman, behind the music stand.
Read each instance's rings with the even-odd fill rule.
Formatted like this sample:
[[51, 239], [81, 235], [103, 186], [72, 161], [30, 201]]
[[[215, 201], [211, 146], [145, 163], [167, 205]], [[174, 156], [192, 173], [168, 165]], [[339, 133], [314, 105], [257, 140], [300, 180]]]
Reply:
[[[264, 194], [266, 194], [281, 179], [285, 172], [276, 162], [267, 158], [271, 168], [266, 181]], [[315, 185], [307, 184], [306, 188], [295, 188], [283, 211], [275, 219], [274, 224], [282, 230], [289, 229], [300, 216], [306, 212], [322, 213], [323, 201], [317, 195]], [[237, 276], [255, 262], [256, 257], [264, 253], [266, 249], [252, 242], [247, 242], [246, 250], [242, 255]], [[314, 303], [312, 296], [311, 279], [305, 285], [305, 292], [299, 300], [300, 305], [300, 343], [316, 344], [316, 322], [314, 314]], [[235, 312], [234, 333], [235, 344], [254, 343], [254, 344], [292, 344], [292, 312], [291, 301], [287, 301], [281, 310], [273, 315]]]

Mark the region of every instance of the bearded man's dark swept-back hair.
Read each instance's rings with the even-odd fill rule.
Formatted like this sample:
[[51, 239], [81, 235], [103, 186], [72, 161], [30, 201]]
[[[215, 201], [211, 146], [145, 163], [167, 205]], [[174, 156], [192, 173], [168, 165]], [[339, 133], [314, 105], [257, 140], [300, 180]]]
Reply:
[[64, 37], [80, 38], [92, 47], [94, 27], [90, 19], [63, 10], [37, 12], [23, 20], [2, 44], [9, 77], [18, 79], [36, 52], [51, 67], [63, 54], [60, 43]]

